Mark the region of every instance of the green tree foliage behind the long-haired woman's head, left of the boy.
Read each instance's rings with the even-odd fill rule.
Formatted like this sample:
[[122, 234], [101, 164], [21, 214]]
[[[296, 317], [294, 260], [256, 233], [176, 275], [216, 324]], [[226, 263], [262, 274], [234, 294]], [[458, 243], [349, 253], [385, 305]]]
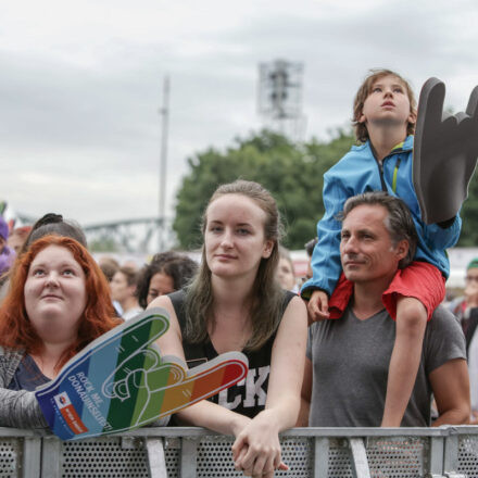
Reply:
[[350, 131], [338, 130], [329, 142], [313, 139], [298, 146], [264, 130], [248, 139], [237, 138], [225, 153], [209, 149], [189, 159], [190, 173], [177, 194], [173, 225], [180, 247], [201, 244], [201, 216], [207, 200], [218, 185], [242, 178], [261, 183], [273, 193], [286, 225], [285, 246], [302, 249], [316, 235], [324, 213], [323, 175], [353, 141]]

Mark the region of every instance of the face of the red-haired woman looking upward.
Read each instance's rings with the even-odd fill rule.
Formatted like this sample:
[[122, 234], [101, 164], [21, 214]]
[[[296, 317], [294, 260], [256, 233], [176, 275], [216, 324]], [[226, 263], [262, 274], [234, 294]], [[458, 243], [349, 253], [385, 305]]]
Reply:
[[76, 339], [87, 293], [85, 273], [68, 249], [49, 246], [35, 256], [24, 294], [26, 313], [40, 339], [51, 343]]

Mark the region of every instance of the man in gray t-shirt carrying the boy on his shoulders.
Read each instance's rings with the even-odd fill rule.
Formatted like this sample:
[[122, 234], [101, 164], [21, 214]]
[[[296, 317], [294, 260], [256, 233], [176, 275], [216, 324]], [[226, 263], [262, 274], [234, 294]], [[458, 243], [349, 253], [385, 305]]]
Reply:
[[[395, 323], [382, 294], [410, 263], [416, 232], [410, 211], [398, 198], [367, 192], [350, 198], [343, 210], [340, 256], [349, 281], [329, 306], [339, 319], [311, 325], [302, 389], [302, 422], [313, 427], [380, 426]], [[397, 277], [395, 277], [397, 276]], [[426, 285], [425, 285], [426, 286]], [[469, 382], [463, 332], [439, 306], [428, 323], [422, 362], [402, 426], [430, 425], [433, 393], [439, 417], [433, 425], [469, 419]]]

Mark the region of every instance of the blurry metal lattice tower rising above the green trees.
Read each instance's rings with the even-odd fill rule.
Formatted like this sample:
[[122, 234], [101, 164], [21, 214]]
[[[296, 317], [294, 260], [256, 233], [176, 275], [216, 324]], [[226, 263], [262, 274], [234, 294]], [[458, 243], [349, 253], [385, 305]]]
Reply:
[[302, 140], [305, 116], [302, 113], [303, 64], [285, 60], [259, 65], [257, 110], [267, 129], [292, 140]]

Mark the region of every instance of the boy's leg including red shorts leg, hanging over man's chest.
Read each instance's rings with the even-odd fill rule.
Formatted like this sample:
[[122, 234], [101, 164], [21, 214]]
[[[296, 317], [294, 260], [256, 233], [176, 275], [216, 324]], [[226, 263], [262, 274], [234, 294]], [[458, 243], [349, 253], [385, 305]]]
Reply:
[[400, 427], [415, 386], [427, 320], [443, 298], [441, 273], [422, 262], [414, 262], [399, 271], [383, 294], [387, 310], [397, 318], [397, 332], [389, 365], [382, 427]]

